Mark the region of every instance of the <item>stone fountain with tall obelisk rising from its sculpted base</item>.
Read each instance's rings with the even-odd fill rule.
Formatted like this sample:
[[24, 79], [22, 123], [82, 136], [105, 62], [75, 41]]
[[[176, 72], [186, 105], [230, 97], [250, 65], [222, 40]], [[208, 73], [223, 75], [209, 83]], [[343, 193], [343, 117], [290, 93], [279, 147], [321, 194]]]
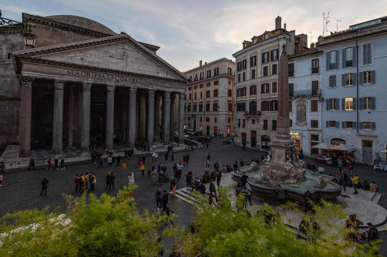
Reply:
[[278, 184], [284, 188], [286, 200], [303, 202], [303, 194], [309, 190], [313, 199], [336, 201], [341, 194], [341, 186], [330, 181], [333, 177], [308, 170], [290, 137], [288, 57], [286, 46], [283, 44], [282, 47], [276, 137], [271, 142], [269, 155], [263, 164], [253, 162], [250, 166], [241, 167], [240, 172], [233, 174], [233, 180], [240, 182], [241, 173], [246, 172], [253, 198], [267, 203], [278, 203], [275, 192]]

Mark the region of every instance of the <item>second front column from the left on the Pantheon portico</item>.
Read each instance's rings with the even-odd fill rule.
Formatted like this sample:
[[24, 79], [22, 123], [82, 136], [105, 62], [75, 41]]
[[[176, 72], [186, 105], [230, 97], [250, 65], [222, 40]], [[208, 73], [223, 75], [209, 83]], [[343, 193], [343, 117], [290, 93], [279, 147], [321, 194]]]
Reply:
[[52, 127], [52, 157], [62, 157], [63, 140], [63, 88], [65, 81], [54, 81], [54, 118]]

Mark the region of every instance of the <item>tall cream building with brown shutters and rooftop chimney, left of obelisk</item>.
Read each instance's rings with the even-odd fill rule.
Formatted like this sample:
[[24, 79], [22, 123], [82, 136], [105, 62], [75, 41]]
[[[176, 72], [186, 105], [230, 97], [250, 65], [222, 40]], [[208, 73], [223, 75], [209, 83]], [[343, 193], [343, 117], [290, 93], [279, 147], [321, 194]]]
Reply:
[[275, 29], [243, 41], [235, 54], [236, 79], [236, 143], [268, 150], [277, 131], [278, 67], [280, 49], [286, 44], [289, 55], [307, 48], [307, 35], [281, 27], [281, 17], [275, 19]]

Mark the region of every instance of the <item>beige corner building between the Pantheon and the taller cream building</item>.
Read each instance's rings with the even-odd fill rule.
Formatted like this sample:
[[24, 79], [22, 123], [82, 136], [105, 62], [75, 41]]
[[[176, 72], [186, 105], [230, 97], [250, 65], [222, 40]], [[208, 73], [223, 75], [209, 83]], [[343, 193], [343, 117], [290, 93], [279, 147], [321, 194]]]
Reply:
[[234, 133], [235, 63], [221, 58], [185, 71], [185, 129], [203, 135]]

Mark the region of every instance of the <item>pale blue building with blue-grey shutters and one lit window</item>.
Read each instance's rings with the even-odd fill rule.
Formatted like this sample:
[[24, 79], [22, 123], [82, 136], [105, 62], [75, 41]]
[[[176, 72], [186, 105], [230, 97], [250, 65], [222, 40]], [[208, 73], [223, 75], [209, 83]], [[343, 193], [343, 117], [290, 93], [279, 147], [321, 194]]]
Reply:
[[387, 17], [319, 38], [322, 142], [349, 145], [358, 162], [385, 159], [386, 41]]

